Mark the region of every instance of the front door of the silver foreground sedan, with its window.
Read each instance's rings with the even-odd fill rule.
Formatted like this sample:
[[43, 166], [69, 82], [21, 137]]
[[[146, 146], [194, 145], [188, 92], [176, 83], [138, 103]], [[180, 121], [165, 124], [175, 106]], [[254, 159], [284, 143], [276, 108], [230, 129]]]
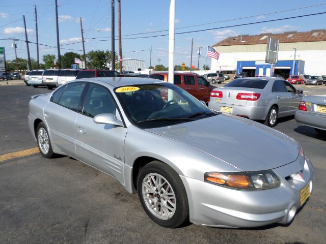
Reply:
[[120, 118], [110, 90], [90, 83], [82, 112], [77, 115], [74, 128], [76, 157], [112, 175], [124, 184], [124, 139], [127, 129], [121, 126], [94, 123], [94, 116], [101, 113], [113, 113]]

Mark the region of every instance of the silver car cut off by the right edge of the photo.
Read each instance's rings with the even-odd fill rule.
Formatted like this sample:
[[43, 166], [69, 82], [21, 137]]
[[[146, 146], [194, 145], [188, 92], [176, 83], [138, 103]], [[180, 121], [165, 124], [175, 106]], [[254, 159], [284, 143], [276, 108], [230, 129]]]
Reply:
[[303, 97], [294, 118], [298, 123], [326, 135], [326, 96]]

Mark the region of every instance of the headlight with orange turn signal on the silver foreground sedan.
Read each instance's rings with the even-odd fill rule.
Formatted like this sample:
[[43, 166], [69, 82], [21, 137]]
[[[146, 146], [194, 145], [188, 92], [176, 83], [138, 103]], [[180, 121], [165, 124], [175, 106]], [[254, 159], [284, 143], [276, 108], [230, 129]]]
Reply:
[[207, 172], [204, 174], [206, 182], [241, 190], [264, 190], [276, 188], [281, 180], [272, 170], [253, 172]]

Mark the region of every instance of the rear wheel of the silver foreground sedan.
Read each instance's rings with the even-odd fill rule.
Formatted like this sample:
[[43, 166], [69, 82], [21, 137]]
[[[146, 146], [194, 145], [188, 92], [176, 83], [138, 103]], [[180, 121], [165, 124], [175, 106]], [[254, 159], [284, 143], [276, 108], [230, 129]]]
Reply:
[[36, 129], [36, 139], [37, 145], [39, 147], [40, 153], [45, 158], [55, 157], [53, 153], [49, 133], [46, 129], [44, 122], [41, 122]]

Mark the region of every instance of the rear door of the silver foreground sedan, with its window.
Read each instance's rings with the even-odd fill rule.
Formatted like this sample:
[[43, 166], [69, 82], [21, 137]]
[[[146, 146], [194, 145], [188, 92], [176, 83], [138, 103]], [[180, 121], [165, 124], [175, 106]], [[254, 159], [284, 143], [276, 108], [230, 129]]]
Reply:
[[53, 149], [75, 157], [75, 120], [85, 82], [75, 82], [58, 88], [44, 107]]

